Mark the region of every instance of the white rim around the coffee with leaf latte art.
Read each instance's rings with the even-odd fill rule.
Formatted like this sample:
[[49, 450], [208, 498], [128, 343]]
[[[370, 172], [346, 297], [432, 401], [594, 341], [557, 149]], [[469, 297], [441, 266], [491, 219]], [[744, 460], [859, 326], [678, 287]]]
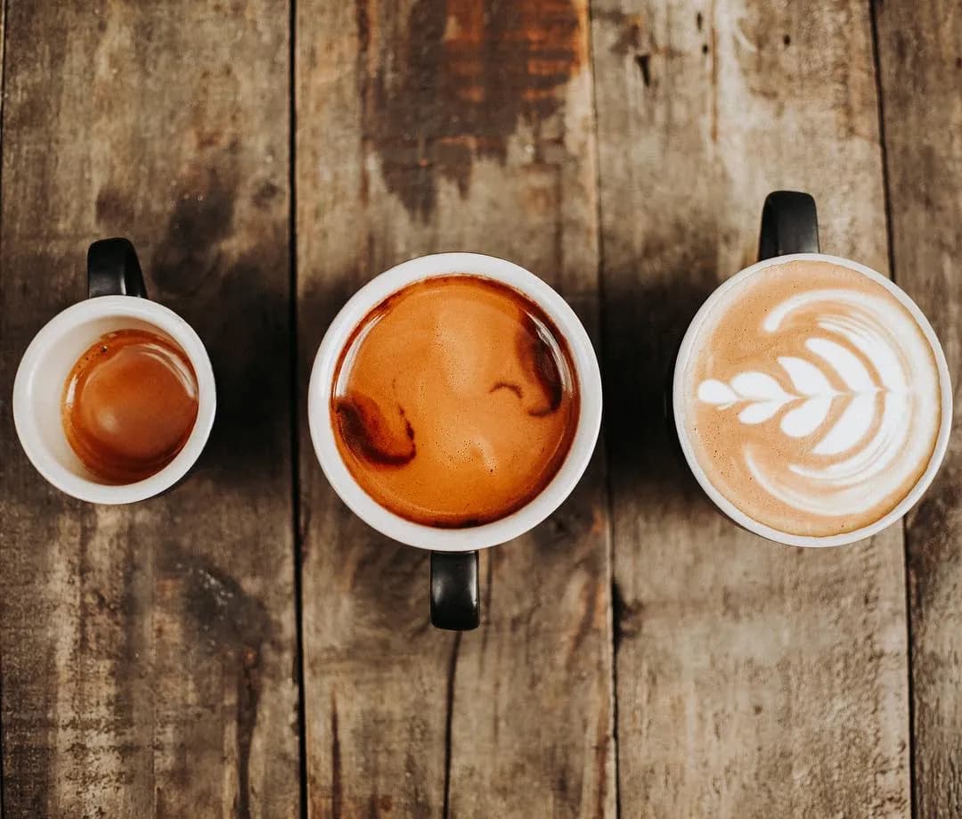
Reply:
[[[726, 294], [729, 290], [738, 287], [739, 284], [748, 276], [753, 275], [759, 270], [795, 261], [829, 262], [843, 268], [855, 270], [856, 272], [862, 273], [863, 275], [882, 285], [886, 290], [889, 291], [889, 293], [893, 294], [897, 299], [899, 299], [899, 303], [901, 303], [909, 311], [909, 313], [912, 314], [912, 317], [922, 328], [925, 339], [928, 341], [928, 344], [932, 349], [932, 353], [935, 356], [936, 367], [939, 372], [939, 385], [942, 395], [942, 420], [939, 425], [939, 434], [936, 438], [935, 448], [932, 449], [932, 455], [929, 458], [928, 465], [925, 468], [924, 473], [922, 473], [922, 475], [919, 477], [919, 480], [916, 481], [911, 491], [909, 491], [909, 493], [903, 499], [901, 499], [888, 514], [882, 516], [872, 524], [862, 526], [858, 529], [852, 529], [850, 532], [843, 532], [835, 535], [824, 535], [822, 537], [791, 534], [789, 532], [780, 531], [772, 526], [764, 525], [758, 521], [755, 521], [753, 518], [750, 518], [747, 514], [745, 514], [745, 512], [735, 506], [734, 503], [724, 498], [722, 493], [719, 492], [711, 480], [709, 480], [704, 470], [701, 469], [700, 464], [698, 464], [695, 455], [695, 448], [693, 447], [685, 429], [684, 422], [683, 372], [685, 370], [685, 365], [688, 362], [689, 355], [691, 354], [692, 347], [695, 344], [697, 331], [704, 320], [706, 320], [708, 317], [712, 308], [718, 303], [724, 294]], [[935, 330], [932, 329], [932, 325], [925, 318], [922, 310], [919, 309], [919, 306], [908, 294], [899, 288], [898, 285], [896, 285], [887, 277], [883, 276], [878, 271], [862, 265], [859, 262], [854, 262], [851, 259], [846, 259], [841, 256], [832, 256], [827, 253], [792, 253], [785, 256], [775, 256], [771, 259], [764, 259], [761, 262], [756, 262], [754, 265], [750, 265], [746, 269], [740, 270], [733, 276], [730, 276], [723, 281], [722, 284], [711, 295], [708, 296], [704, 304], [701, 305], [700, 309], [695, 315], [695, 318], [688, 325], [688, 330], [685, 332], [685, 337], [678, 349], [678, 356], [675, 360], [674, 375], [671, 387], [671, 404], [674, 416], [674, 425], [678, 434], [678, 440], [681, 444], [682, 451], [685, 453], [685, 460], [688, 462], [689, 468], [692, 470], [692, 473], [695, 474], [696, 480], [700, 484], [701, 488], [705, 491], [705, 494], [712, 499], [715, 505], [718, 506], [722, 512], [724, 512], [724, 514], [736, 524], [746, 528], [748, 531], [752, 531], [755, 534], [759, 534], [764, 538], [774, 541], [775, 543], [785, 544], [786, 546], [846, 546], [850, 543], [854, 543], [855, 541], [872, 537], [872, 535], [880, 532], [882, 529], [894, 524], [899, 520], [899, 518], [905, 515], [905, 513], [908, 512], [909, 509], [911, 509], [920, 498], [922, 498], [925, 490], [928, 489], [932, 480], [935, 478], [935, 474], [939, 471], [939, 467], [942, 465], [942, 460], [949, 448], [949, 433], [951, 431], [952, 424], [952, 391], [951, 381], [949, 378], [949, 365], [946, 362], [946, 355], [942, 349], [942, 345], [939, 343], [938, 337], [935, 335]]]

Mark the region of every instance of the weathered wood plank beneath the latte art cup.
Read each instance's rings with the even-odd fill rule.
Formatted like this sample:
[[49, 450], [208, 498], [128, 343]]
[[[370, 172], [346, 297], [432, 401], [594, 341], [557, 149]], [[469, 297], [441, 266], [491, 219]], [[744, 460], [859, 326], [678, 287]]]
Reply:
[[884, 270], [866, 4], [596, 0], [620, 806], [631, 816], [909, 810], [899, 527], [839, 550], [726, 522], [662, 397], [703, 299], [755, 259], [767, 192]]

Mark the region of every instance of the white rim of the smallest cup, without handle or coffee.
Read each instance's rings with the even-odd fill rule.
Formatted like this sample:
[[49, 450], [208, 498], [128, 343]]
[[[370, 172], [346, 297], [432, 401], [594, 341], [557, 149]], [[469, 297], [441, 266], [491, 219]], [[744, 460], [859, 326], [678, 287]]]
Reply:
[[[90, 320], [123, 317], [145, 321], [165, 332], [187, 353], [197, 377], [197, 420], [184, 448], [164, 469], [134, 483], [97, 483], [66, 469], [40, 441], [38, 421], [31, 411], [34, 373], [47, 346], [71, 327]], [[173, 486], [196, 462], [214, 426], [214, 370], [200, 337], [180, 316], [156, 301], [133, 295], [101, 295], [67, 307], [40, 328], [20, 359], [13, 380], [13, 424], [20, 445], [44, 478], [62, 492], [90, 503], [133, 503], [159, 495]]]

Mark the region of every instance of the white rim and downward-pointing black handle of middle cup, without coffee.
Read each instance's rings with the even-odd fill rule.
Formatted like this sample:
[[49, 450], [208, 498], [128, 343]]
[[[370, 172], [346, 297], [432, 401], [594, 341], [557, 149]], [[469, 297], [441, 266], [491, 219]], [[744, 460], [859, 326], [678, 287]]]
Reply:
[[[517, 511], [482, 525], [441, 528], [408, 521], [372, 499], [345, 466], [331, 415], [333, 380], [343, 347], [367, 314], [416, 282], [452, 274], [481, 276], [526, 296], [552, 320], [570, 350], [578, 380], [577, 426], [567, 457], [544, 490]], [[344, 503], [384, 535], [431, 554], [431, 622], [464, 630], [480, 621], [478, 550], [505, 543], [540, 524], [574, 489], [595, 449], [601, 424], [601, 378], [595, 350], [568, 303], [533, 273], [478, 253], [439, 253], [397, 265], [376, 276], [344, 305], [327, 330], [314, 362], [308, 418], [317, 459]]]

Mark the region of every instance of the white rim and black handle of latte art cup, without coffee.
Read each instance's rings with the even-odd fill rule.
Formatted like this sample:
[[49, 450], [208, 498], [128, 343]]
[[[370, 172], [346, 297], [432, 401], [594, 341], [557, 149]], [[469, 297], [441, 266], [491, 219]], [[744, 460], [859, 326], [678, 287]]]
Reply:
[[[838, 256], [829, 256], [820, 252], [815, 201], [807, 193], [778, 191], [771, 193], [766, 199], [765, 208], [762, 211], [759, 260], [760, 261], [754, 265], [735, 273], [735, 275], [723, 282], [722, 285], [708, 297], [689, 325], [688, 331], [685, 333], [685, 337], [679, 348], [674, 367], [671, 402], [675, 429], [678, 434], [681, 449], [685, 454], [685, 459], [688, 461], [689, 468], [695, 474], [705, 494], [714, 501], [715, 505], [718, 506], [725, 515], [748, 531], [752, 531], [776, 543], [783, 543], [787, 546], [806, 547], [845, 546], [857, 540], [871, 537], [886, 526], [898, 521], [899, 518], [922, 498], [925, 490], [938, 472], [942, 460], [945, 457], [946, 450], [949, 448], [949, 432], [952, 423], [952, 391], [949, 380], [949, 366], [946, 364], [945, 353], [939, 344], [935, 331], [932, 329], [928, 320], [925, 319], [923, 312], [896, 284], [881, 273], [867, 268], [858, 262], [853, 262], [850, 259], [843, 259]], [[685, 387], [683, 373], [688, 365], [692, 347], [696, 341], [698, 328], [701, 323], [708, 317], [719, 300], [726, 297], [732, 290], [737, 290], [747, 278], [760, 270], [793, 260], [823, 260], [833, 265], [854, 270], [882, 285], [890, 294], [894, 295], [918, 322], [925, 339], [931, 346], [939, 373], [942, 397], [942, 420], [939, 426], [935, 448], [932, 450], [924, 473], [908, 494], [901, 499], [895, 508], [887, 515], [882, 516], [872, 524], [842, 534], [826, 535], [823, 537], [790, 534], [774, 529], [772, 526], [761, 524], [748, 517], [742, 510], [735, 506], [731, 500], [725, 498], [722, 493], [715, 488], [714, 484], [712, 484], [704, 470], [702, 470], [698, 464], [695, 449], [688, 435], [684, 420]]]

